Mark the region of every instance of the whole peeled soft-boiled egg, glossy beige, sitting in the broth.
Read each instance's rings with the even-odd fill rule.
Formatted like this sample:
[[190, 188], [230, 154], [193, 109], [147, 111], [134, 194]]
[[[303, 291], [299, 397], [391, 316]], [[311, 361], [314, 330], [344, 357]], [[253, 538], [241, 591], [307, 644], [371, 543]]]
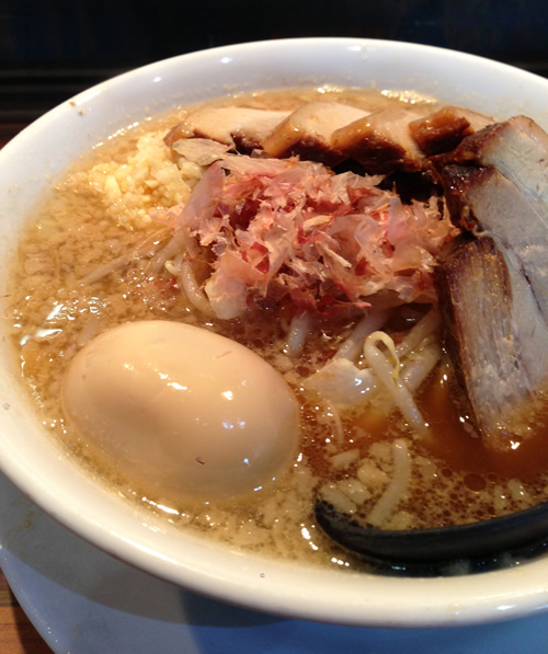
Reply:
[[126, 323], [90, 341], [68, 368], [62, 401], [84, 441], [165, 492], [261, 487], [298, 446], [284, 378], [243, 345], [178, 322]]

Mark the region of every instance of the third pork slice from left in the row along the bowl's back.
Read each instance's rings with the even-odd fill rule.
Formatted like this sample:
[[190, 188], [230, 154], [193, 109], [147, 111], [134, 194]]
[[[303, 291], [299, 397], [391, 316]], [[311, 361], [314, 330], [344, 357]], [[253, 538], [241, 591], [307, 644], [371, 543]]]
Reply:
[[361, 163], [369, 174], [418, 172], [423, 168], [424, 154], [411, 137], [409, 123], [424, 116], [424, 112], [380, 110], [334, 131], [333, 148]]

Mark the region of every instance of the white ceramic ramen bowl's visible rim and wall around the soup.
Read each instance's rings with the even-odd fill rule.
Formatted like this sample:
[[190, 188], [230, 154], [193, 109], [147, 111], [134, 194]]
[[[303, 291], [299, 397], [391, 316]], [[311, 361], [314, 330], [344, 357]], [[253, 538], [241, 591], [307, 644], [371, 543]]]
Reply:
[[[272, 41], [175, 57], [123, 74], [53, 110], [0, 152], [0, 261], [55, 175], [121, 127], [178, 103], [233, 91], [333, 83], [410, 89], [548, 127], [548, 81], [420, 45], [347, 38]], [[5, 284], [0, 273], [0, 296]], [[4, 301], [4, 300], [3, 300]], [[517, 618], [548, 607], [548, 559], [480, 576], [389, 578], [236, 553], [173, 531], [71, 463], [34, 417], [1, 330], [0, 464], [34, 502], [95, 546], [221, 600], [302, 619], [439, 627]]]

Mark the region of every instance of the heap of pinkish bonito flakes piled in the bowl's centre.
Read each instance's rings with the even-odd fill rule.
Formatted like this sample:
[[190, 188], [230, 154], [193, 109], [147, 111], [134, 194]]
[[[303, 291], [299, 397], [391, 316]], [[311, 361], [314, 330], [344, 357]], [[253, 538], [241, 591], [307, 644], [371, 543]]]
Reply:
[[321, 163], [224, 154], [169, 216], [208, 262], [204, 290], [218, 318], [250, 299], [295, 313], [341, 306], [434, 301], [432, 271], [458, 230], [429, 203], [403, 204], [381, 176]]

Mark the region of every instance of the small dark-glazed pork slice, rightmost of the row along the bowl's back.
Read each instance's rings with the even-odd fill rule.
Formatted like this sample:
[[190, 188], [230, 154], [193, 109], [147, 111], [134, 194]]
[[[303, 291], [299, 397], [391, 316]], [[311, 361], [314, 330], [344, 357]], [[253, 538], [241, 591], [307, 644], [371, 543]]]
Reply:
[[460, 141], [492, 124], [493, 119], [459, 106], [444, 106], [427, 116], [411, 121], [409, 130], [427, 156], [448, 152]]

